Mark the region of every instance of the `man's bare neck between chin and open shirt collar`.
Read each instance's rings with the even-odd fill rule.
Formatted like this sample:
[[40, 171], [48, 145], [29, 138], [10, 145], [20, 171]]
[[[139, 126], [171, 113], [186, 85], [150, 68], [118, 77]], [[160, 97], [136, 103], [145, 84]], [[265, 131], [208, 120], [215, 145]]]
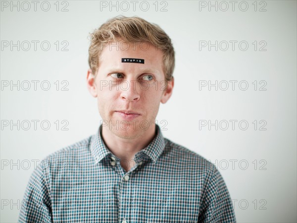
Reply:
[[115, 135], [108, 126], [102, 126], [101, 135], [110, 152], [121, 159], [122, 167], [128, 172], [136, 165], [133, 161], [135, 154], [148, 146], [155, 137], [155, 124], [149, 126], [139, 137], [133, 139]]

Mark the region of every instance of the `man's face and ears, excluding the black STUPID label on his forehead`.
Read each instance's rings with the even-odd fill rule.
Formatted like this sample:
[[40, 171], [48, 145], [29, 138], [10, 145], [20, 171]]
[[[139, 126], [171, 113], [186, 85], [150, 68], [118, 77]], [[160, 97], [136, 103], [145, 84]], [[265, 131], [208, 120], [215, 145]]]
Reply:
[[[122, 62], [122, 58], [145, 63]], [[173, 80], [165, 82], [163, 52], [147, 43], [113, 42], [104, 47], [96, 78], [89, 70], [87, 79], [91, 94], [98, 98], [103, 127], [130, 139], [154, 129], [160, 102], [166, 103], [173, 88]]]

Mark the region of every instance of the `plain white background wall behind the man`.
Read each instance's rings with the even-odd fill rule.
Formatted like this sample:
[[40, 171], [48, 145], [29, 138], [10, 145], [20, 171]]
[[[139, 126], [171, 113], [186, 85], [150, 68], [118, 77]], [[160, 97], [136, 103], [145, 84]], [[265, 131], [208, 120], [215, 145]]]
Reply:
[[[163, 135], [217, 164], [234, 200], [238, 222], [297, 222], [295, 0], [237, 1], [234, 9], [230, 1], [138, 1], [135, 10], [131, 1], [113, 1], [118, 7], [112, 8], [109, 1], [101, 1], [101, 6], [106, 3], [107, 7], [100, 7], [100, 1], [60, 1], [58, 11], [55, 2], [50, 1], [46, 11], [47, 2], [40, 1], [35, 11], [32, 1], [13, 1], [19, 7], [12, 9], [10, 1], [1, 1], [1, 223], [17, 222], [34, 160], [39, 164], [54, 151], [98, 130], [97, 101], [86, 87], [87, 37], [120, 14], [158, 24], [173, 41], [174, 92], [169, 102], [160, 106], [156, 118], [166, 121], [160, 124]], [[127, 3], [130, 8], [125, 11]], [[202, 7], [204, 3], [206, 7]], [[209, 3], [217, 4], [217, 11], [209, 9]], [[68, 11], [62, 11], [64, 6]], [[20, 49], [11, 49], [10, 44], [17, 41]], [[31, 43], [28, 51], [26, 41]], [[36, 51], [32, 41], [40, 41]], [[49, 41], [48, 51], [41, 48], [43, 41]], [[62, 41], [69, 44], [68, 51], [61, 51], [65, 46]], [[201, 41], [218, 41], [217, 51], [208, 46], [199, 49], [199, 44], [205, 43]], [[224, 41], [229, 43], [226, 51]], [[230, 41], [237, 41], [234, 51]], [[247, 42], [246, 51], [245, 44], [239, 48], [241, 41]], [[9, 46], [3, 47], [6, 43]], [[266, 51], [259, 51], [260, 47]], [[20, 90], [2, 86], [18, 80]], [[32, 80], [39, 81], [36, 91]], [[68, 91], [61, 91], [63, 80], [69, 83]], [[230, 80], [237, 81], [234, 90]], [[26, 81], [31, 82], [27, 91], [22, 89], [27, 88]], [[42, 81], [50, 83], [48, 91], [42, 90]], [[199, 90], [201, 81], [218, 81], [218, 90], [208, 90], [208, 86]], [[248, 83], [247, 90], [240, 89], [240, 81], [242, 88]], [[223, 91], [226, 82], [229, 88]], [[259, 91], [263, 83], [266, 91]], [[17, 130], [17, 126], [5, 126], [5, 120], [40, 121], [37, 130], [33, 122], [29, 130], [23, 129], [27, 125]], [[42, 120], [49, 120], [49, 130], [41, 128]], [[60, 130], [62, 120], [69, 122], [69, 130]], [[199, 130], [199, 120], [227, 120], [229, 127], [222, 130], [225, 124], [221, 122], [217, 130], [215, 126], [209, 130], [208, 125]], [[237, 120], [234, 130], [229, 120]], [[247, 130], [240, 129], [241, 120], [248, 123]], [[266, 130], [259, 130], [263, 124]]]

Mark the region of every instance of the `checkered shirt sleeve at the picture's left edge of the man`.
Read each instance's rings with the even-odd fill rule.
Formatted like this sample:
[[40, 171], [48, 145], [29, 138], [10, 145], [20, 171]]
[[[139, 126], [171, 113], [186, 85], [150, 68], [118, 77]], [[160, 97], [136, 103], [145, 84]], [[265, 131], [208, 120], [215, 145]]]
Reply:
[[48, 167], [39, 165], [30, 177], [19, 223], [52, 223]]

